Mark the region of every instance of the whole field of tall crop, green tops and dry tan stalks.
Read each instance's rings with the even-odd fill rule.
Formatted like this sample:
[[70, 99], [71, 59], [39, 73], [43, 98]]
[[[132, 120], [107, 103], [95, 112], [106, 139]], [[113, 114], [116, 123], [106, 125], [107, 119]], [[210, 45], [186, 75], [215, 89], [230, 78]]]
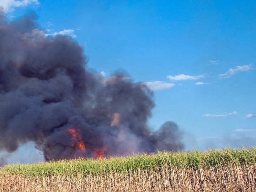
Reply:
[[6, 165], [0, 168], [0, 191], [7, 188], [69, 192], [256, 191], [256, 148]]

